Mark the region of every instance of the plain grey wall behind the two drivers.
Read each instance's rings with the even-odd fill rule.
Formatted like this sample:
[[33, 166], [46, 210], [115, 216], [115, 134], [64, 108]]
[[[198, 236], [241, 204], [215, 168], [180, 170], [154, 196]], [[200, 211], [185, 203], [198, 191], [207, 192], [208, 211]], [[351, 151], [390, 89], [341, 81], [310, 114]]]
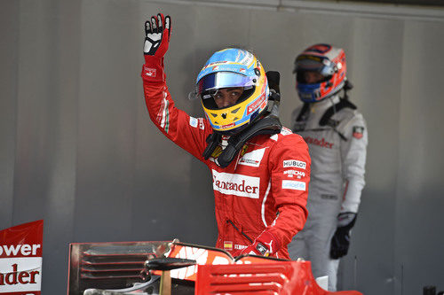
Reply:
[[143, 23], [160, 11], [172, 18], [170, 92], [194, 116], [201, 106], [186, 94], [215, 50], [241, 45], [281, 72], [289, 126], [297, 53], [343, 47], [369, 152], [339, 283], [365, 294], [444, 290], [444, 12], [242, 3], [0, 2], [0, 229], [44, 219], [43, 294], [66, 291], [72, 242], [214, 245], [210, 173], [163, 138], [144, 105]]

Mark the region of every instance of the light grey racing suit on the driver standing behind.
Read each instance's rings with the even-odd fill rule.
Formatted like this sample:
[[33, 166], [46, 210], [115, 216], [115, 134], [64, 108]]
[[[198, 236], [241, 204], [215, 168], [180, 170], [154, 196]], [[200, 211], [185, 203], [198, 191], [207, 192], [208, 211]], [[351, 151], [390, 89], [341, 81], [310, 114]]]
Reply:
[[310, 104], [305, 116], [299, 117], [301, 105], [291, 120], [293, 132], [308, 144], [312, 174], [308, 219], [289, 244], [289, 256], [292, 260], [311, 260], [314, 277], [329, 276], [329, 291], [336, 291], [339, 265], [339, 260], [329, 257], [331, 237], [339, 213], [358, 213], [368, 143], [366, 122], [353, 108], [333, 109], [329, 123], [320, 125], [324, 113], [339, 101], [336, 95]]

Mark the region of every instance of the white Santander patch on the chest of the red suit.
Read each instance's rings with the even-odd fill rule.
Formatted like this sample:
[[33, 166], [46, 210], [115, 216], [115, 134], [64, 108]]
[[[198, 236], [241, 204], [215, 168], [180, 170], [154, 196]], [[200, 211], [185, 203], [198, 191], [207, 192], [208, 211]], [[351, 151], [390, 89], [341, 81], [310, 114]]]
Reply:
[[212, 170], [213, 190], [226, 195], [259, 198], [259, 177], [237, 175]]

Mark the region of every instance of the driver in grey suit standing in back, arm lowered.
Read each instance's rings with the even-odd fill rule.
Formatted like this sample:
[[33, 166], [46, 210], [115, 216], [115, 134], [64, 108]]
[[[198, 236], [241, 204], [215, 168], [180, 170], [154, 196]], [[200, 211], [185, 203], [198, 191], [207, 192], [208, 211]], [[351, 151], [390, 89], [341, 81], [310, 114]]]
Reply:
[[292, 114], [292, 130], [308, 144], [312, 174], [308, 219], [289, 255], [311, 260], [313, 276], [329, 276], [329, 291], [336, 291], [339, 258], [348, 252], [365, 184], [367, 127], [347, 97], [344, 50], [315, 44], [297, 56], [294, 72], [304, 104]]

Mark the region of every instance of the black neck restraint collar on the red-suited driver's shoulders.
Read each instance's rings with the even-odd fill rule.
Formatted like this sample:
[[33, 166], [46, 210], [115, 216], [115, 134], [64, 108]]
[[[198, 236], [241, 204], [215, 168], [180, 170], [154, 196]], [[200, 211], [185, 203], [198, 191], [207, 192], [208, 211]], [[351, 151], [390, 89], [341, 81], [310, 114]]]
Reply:
[[[281, 95], [279, 93], [279, 73], [267, 72], [267, 78], [270, 80], [270, 97], [266, 106], [265, 115], [259, 117], [254, 123], [234, 136], [230, 136], [226, 148], [220, 153], [216, 163], [220, 167], [227, 167], [233, 161], [234, 157], [242, 146], [250, 140], [250, 138], [258, 135], [274, 135], [281, 132], [282, 124], [279, 120], [279, 104]], [[277, 89], [277, 91], [276, 91]], [[221, 135], [214, 132], [207, 137], [207, 147], [203, 151], [203, 158], [209, 159], [213, 151], [216, 149], [221, 140]]]

